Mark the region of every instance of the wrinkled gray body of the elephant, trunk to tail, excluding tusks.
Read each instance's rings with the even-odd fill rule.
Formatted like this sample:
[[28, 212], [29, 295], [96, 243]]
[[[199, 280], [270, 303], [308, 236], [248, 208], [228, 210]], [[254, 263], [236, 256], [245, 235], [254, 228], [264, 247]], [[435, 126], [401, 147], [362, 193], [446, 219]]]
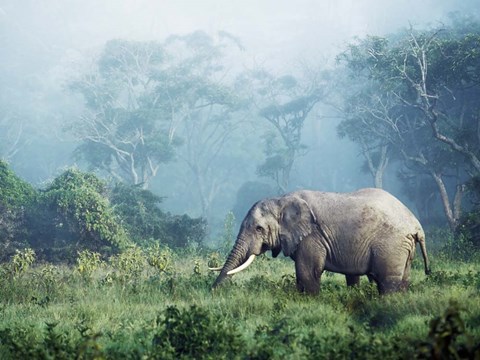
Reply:
[[422, 226], [383, 190], [295, 191], [253, 205], [213, 287], [250, 255], [271, 250], [273, 257], [283, 251], [295, 261], [297, 288], [302, 292], [317, 293], [324, 270], [345, 274], [347, 285], [368, 275], [381, 294], [404, 290], [416, 242], [428, 274]]

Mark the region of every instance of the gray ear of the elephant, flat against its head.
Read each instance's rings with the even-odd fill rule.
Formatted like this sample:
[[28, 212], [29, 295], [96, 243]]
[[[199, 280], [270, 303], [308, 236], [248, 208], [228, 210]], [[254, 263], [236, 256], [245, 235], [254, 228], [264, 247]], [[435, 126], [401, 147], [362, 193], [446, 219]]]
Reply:
[[287, 196], [280, 213], [280, 244], [285, 256], [291, 256], [298, 244], [313, 232], [317, 219], [308, 203], [296, 196]]

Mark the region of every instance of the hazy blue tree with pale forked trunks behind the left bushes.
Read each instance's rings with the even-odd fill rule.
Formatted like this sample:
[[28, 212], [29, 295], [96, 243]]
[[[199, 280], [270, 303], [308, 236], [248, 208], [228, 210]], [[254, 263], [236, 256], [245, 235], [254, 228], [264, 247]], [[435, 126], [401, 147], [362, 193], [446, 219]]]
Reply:
[[169, 136], [170, 114], [158, 106], [155, 69], [165, 54], [156, 42], [109, 41], [92, 69], [71, 88], [86, 111], [70, 130], [82, 141], [76, 154], [91, 169], [147, 188], [179, 145]]

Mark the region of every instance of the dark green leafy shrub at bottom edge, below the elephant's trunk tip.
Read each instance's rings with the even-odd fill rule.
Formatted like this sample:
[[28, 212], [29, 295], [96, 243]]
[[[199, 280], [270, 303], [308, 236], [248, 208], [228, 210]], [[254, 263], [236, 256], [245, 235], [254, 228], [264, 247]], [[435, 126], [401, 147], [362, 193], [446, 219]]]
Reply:
[[169, 306], [157, 324], [154, 354], [161, 359], [231, 359], [238, 357], [243, 345], [234, 327], [195, 305], [183, 311]]

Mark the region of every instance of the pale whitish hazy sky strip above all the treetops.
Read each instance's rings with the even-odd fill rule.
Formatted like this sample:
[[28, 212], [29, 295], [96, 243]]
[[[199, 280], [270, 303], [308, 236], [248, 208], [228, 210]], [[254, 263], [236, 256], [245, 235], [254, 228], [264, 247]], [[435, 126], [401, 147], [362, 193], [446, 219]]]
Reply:
[[331, 58], [355, 35], [477, 9], [480, 0], [0, 0], [0, 24], [56, 55], [112, 38], [163, 40], [198, 29], [225, 30], [260, 61], [287, 63]]

